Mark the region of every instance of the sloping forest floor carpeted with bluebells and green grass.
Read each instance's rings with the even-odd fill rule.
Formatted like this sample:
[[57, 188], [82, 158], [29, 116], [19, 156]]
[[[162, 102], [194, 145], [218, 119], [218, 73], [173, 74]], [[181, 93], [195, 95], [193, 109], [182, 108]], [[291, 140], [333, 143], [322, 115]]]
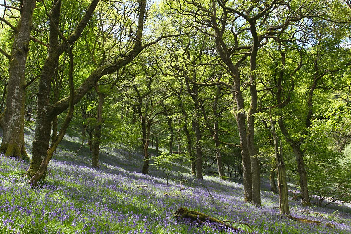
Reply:
[[[25, 141], [31, 152], [32, 131]], [[243, 201], [243, 185], [239, 181], [204, 176], [194, 180], [185, 171], [189, 184], [181, 188], [179, 173], [174, 172], [168, 187], [165, 176], [150, 167], [150, 175], [141, 174], [142, 156], [129, 154], [115, 147], [104, 148], [100, 168], [93, 169], [91, 153], [81, 139], [67, 136], [51, 160], [46, 180], [31, 189], [22, 177], [28, 162], [0, 155], [0, 233], [149, 233], [149, 234], [211, 234], [238, 233], [219, 229], [211, 224], [177, 223], [173, 213], [187, 207], [219, 220], [240, 221], [247, 226], [234, 227], [251, 233], [307, 234], [351, 233], [351, 212], [347, 205], [330, 208], [302, 207], [290, 201], [291, 215], [321, 221], [311, 225], [279, 218], [278, 195], [262, 190], [262, 207]], [[213, 199], [203, 183], [210, 191]], [[138, 186], [146, 185], [146, 187]], [[307, 214], [301, 210], [309, 210]], [[335, 227], [326, 226], [327, 223]]]

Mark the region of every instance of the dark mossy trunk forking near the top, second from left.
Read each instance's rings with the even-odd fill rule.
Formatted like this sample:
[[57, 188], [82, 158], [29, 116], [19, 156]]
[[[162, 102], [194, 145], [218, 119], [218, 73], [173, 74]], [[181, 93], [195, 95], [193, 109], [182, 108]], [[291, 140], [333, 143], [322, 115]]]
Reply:
[[[73, 32], [73, 34], [68, 36], [67, 40], [70, 45], [72, 45], [79, 38], [81, 32], [83, 31], [89, 19], [91, 18], [91, 15], [93, 14], [98, 2], [99, 0], [92, 0], [91, 4], [86, 9], [81, 21], [75, 28], [75, 31]], [[65, 43], [58, 44], [59, 35], [56, 31], [56, 25], [59, 24], [61, 1], [54, 0], [53, 4], [56, 3], [57, 5], [55, 5], [55, 8], [51, 12], [48, 55], [40, 73], [40, 81], [37, 95], [37, 118], [32, 149], [32, 160], [27, 170], [27, 174], [29, 176], [33, 176], [37, 173], [42, 160], [48, 153], [52, 119], [55, 115], [58, 115], [59, 113], [62, 113], [65, 109], [67, 109], [68, 106], [68, 103], [65, 102], [65, 107], [63, 109], [58, 110], [57, 113], [54, 113], [54, 107], [51, 106], [49, 102], [52, 75], [55, 72], [55, 68], [58, 64], [60, 55], [67, 50], [67, 46]], [[86, 89], [84, 90], [86, 92], [88, 91]], [[82, 92], [82, 94], [84, 95], [86, 92]], [[58, 107], [56, 106], [55, 108]], [[47, 163], [50, 159], [50, 157], [46, 158]]]

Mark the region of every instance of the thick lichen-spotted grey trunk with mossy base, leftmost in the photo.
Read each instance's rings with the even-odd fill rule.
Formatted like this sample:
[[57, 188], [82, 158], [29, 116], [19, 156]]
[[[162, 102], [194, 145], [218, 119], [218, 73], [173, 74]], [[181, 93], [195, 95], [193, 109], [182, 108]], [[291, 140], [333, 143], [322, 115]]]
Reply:
[[1, 115], [3, 138], [0, 153], [25, 160], [29, 160], [24, 145], [25, 68], [34, 8], [35, 0], [22, 2], [8, 67], [6, 107]]

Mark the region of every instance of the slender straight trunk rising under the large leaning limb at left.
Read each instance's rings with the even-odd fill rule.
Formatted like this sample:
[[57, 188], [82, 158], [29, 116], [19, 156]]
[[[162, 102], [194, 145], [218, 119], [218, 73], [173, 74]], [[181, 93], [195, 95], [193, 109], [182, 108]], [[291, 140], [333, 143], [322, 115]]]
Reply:
[[104, 105], [104, 100], [107, 95], [101, 93], [97, 86], [95, 89], [99, 95], [99, 103], [97, 108], [97, 123], [95, 125], [95, 133], [93, 139], [93, 158], [92, 166], [99, 168], [99, 151], [100, 151], [100, 140], [101, 140], [101, 125], [102, 125], [102, 107]]

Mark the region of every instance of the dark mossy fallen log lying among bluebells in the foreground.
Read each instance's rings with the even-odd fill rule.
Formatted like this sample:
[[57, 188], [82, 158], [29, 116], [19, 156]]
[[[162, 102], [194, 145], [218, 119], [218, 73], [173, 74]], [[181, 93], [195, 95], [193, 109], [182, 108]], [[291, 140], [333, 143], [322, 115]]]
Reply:
[[220, 221], [216, 218], [213, 218], [211, 216], [208, 216], [207, 214], [197, 212], [195, 210], [189, 210], [185, 207], [180, 207], [176, 212], [174, 212], [174, 217], [177, 219], [178, 222], [180, 221], [191, 221], [191, 222], [197, 222], [197, 223], [205, 223], [205, 222], [210, 222], [213, 225], [211, 226], [218, 226], [218, 227], [226, 227], [230, 228], [233, 230], [239, 230], [238, 228], [235, 228], [223, 221]]

